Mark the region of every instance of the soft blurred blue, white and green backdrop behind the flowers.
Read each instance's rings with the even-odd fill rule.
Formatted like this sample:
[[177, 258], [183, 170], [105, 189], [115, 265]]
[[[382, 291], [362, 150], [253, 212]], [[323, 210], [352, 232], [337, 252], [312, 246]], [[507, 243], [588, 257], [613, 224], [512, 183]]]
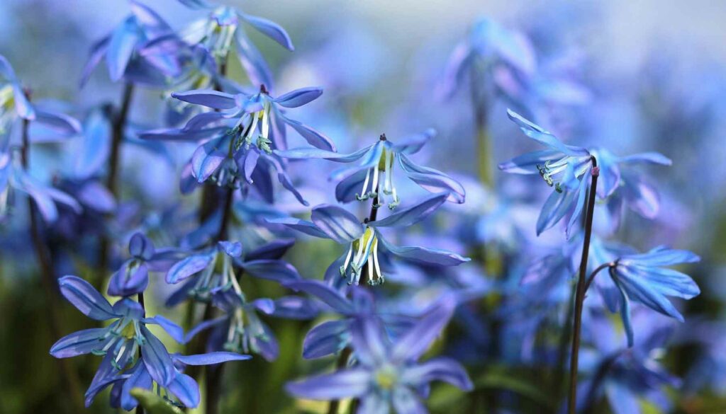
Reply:
[[[341, 152], [367, 145], [380, 133], [391, 138], [436, 128], [439, 135], [421, 155], [426, 160], [422, 164], [444, 170], [465, 183], [467, 203], [447, 207], [454, 218], [491, 217], [494, 207], [490, 192], [516, 192], [517, 183], [499, 171], [489, 186], [476, 183], [481, 160], [474, 150], [469, 96], [459, 92], [444, 99], [439, 93], [449, 55], [482, 17], [529, 36], [538, 63], [566, 72], [584, 96], [549, 107], [547, 115], [538, 119], [542, 125], [569, 144], [603, 145], [616, 154], [657, 151], [673, 160], [672, 167], [648, 170], [661, 194], [656, 220], [628, 221], [619, 231], [620, 239], [640, 249], [669, 244], [690, 249], [703, 258], [689, 272], [702, 294], [682, 304], [687, 324], [677, 327], [674, 345], [663, 361], [684, 382], [678, 391], [670, 391], [673, 403], [667, 409], [648, 405], [643, 412], [726, 413], [726, 346], [722, 345], [726, 342], [720, 341], [726, 340], [726, 326], [722, 326], [726, 302], [726, 2], [220, 2], [286, 28], [295, 43], [293, 53], [253, 30], [249, 34], [270, 62], [277, 93], [312, 85], [325, 88], [321, 99], [301, 110], [301, 117], [333, 138]], [[200, 12], [172, 0], [147, 0], [144, 4], [159, 12], [173, 28], [184, 28], [200, 17]], [[80, 90], [78, 82], [91, 45], [113, 30], [128, 12], [125, 0], [2, 0], [0, 54], [12, 62], [38, 101], [49, 100], [76, 111], [117, 102], [121, 86], [111, 83], [105, 70], [97, 70]], [[242, 70], [235, 64], [230, 77], [241, 82]], [[163, 94], [168, 91], [144, 90], [134, 101], [131, 119], [149, 128], [158, 127]], [[531, 148], [510, 125], [506, 108], [506, 102], [497, 102], [489, 112], [491, 162], [507, 160]], [[134, 186], [128, 194], [139, 197], [149, 212], [171, 207], [179, 201], [179, 160], [188, 158], [192, 149], [169, 149], [169, 157], [177, 162], [165, 162], [144, 152], [125, 154], [123, 174]], [[54, 146], [33, 151], [34, 175], [50, 176], [60, 168]], [[63, 157], [73, 157], [72, 149], [63, 151]], [[322, 164], [303, 168], [320, 175], [330, 170]], [[541, 191], [534, 195], [540, 200], [547, 194], [545, 186], [531, 188]], [[331, 198], [325, 186], [311, 184], [306, 191], [313, 205]], [[528, 229], [534, 234], [534, 225]], [[446, 230], [441, 233], [442, 237], [454, 237]], [[48, 355], [55, 339], [41, 328], [44, 303], [38, 294], [33, 256], [20, 247], [24, 240], [27, 243], [23, 239], [27, 234], [3, 228], [0, 236], [0, 413], [66, 412], [60, 377]], [[556, 244], [561, 234], [547, 233], [540, 239], [543, 245]], [[79, 240], [78, 248], [89, 242]], [[18, 260], [23, 257], [27, 260]], [[324, 244], [307, 242], [301, 249], [293, 249], [288, 260], [303, 276], [315, 277], [325, 270], [331, 257], [335, 254], [326, 251]], [[68, 266], [77, 269], [78, 261]], [[472, 271], [476, 273], [476, 268]], [[163, 294], [160, 291], [160, 297]], [[153, 299], [150, 303], [161, 307]], [[86, 321], [70, 305], [65, 311], [69, 329], [86, 327]], [[276, 322], [281, 348], [287, 350], [274, 363], [256, 360], [235, 370], [229, 380], [235, 385], [224, 405], [229, 410], [223, 412], [319, 412], [314, 404], [295, 403], [282, 392], [285, 381], [326, 366], [325, 361], [303, 363], [298, 357], [307, 327], [295, 321]], [[710, 340], [688, 341], [696, 330], [706, 332]], [[72, 362], [83, 373], [84, 384], [96, 363], [91, 357]], [[452, 409], [452, 404], [477, 407], [462, 402], [473, 397], [449, 391], [434, 394], [431, 410], [460, 412]], [[537, 390], [533, 393], [534, 399], [541, 397]], [[605, 403], [597, 410], [611, 412]], [[91, 411], [110, 412], [105, 397], [99, 397]], [[485, 411], [471, 408], [470, 412]], [[529, 411], [510, 412], [537, 410], [530, 407]]]

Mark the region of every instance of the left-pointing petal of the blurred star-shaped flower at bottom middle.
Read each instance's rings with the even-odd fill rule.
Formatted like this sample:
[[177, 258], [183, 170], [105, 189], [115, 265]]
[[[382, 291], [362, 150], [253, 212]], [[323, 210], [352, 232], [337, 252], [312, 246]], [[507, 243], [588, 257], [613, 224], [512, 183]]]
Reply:
[[367, 370], [352, 368], [289, 382], [285, 385], [285, 389], [295, 397], [306, 399], [361, 397], [368, 392], [371, 379], [371, 373]]

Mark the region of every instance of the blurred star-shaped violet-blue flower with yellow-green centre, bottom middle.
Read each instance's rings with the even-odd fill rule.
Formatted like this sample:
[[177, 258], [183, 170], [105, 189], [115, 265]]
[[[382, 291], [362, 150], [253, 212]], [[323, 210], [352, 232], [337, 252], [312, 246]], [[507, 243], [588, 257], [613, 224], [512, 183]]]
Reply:
[[421, 398], [432, 381], [445, 381], [460, 389], [473, 388], [467, 373], [456, 361], [437, 357], [417, 360], [451, 318], [453, 302], [443, 302], [391, 344], [380, 323], [371, 318], [351, 326], [357, 364], [335, 373], [288, 383], [287, 392], [307, 399], [361, 400], [362, 413], [426, 413]]

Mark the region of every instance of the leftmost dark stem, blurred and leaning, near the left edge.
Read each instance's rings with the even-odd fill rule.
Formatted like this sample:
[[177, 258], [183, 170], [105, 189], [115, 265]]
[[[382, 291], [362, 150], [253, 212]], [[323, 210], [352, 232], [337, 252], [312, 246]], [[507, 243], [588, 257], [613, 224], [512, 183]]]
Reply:
[[[26, 92], [28, 100], [30, 94]], [[30, 138], [28, 136], [28, 128], [30, 122], [23, 120], [23, 146], [20, 149], [20, 162], [23, 165], [23, 170], [28, 171], [28, 165], [30, 164], [30, 157], [28, 157], [28, 151], [30, 149]], [[60, 320], [60, 305], [58, 303], [58, 297], [56, 291], [58, 289], [57, 279], [53, 271], [53, 262], [50, 252], [47, 249], [46, 243], [41, 233], [41, 227], [38, 220], [38, 214], [36, 212], [36, 206], [33, 204], [32, 197], [28, 196], [28, 215], [30, 216], [30, 239], [33, 241], [33, 249], [36, 251], [36, 257], [38, 257], [38, 265], [41, 270], [41, 285], [43, 286], [43, 293], [46, 298], [46, 310], [48, 311], [48, 323], [50, 328], [50, 334], [54, 339], [62, 336], [61, 320]], [[68, 386], [68, 392], [70, 392], [70, 403], [73, 405], [73, 410], [76, 413], [82, 413], [85, 410], [83, 405], [83, 399], [81, 398], [81, 381], [78, 380], [78, 375], [75, 370], [70, 367], [70, 361], [65, 359], [56, 359], [57, 364], [60, 366], [60, 372], [63, 378], [65, 378], [65, 384]]]

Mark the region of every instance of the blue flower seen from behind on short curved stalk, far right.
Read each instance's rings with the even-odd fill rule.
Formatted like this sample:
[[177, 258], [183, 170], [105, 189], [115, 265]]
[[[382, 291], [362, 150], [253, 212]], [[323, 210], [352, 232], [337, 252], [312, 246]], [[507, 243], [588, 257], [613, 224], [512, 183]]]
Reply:
[[683, 322], [683, 316], [666, 297], [691, 299], [698, 296], [701, 290], [690, 276], [666, 266], [699, 260], [701, 258], [692, 252], [656, 247], [646, 253], [621, 256], [613, 262], [610, 276], [620, 292], [620, 314], [629, 346], [633, 344], [634, 332], [630, 319], [630, 300]]

